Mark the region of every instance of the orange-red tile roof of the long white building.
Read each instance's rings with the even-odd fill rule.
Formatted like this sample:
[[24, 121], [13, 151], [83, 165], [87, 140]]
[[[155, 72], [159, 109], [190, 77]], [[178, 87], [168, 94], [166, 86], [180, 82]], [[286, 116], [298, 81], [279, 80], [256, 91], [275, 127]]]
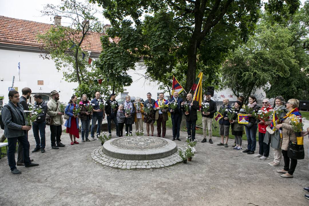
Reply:
[[[0, 16], [0, 43], [40, 47], [42, 43], [38, 42], [37, 34], [44, 34], [51, 26], [53, 24]], [[88, 32], [81, 45], [82, 49], [91, 50], [91, 53], [101, 53], [102, 35], [104, 33]], [[118, 41], [117, 38], [115, 40]]]

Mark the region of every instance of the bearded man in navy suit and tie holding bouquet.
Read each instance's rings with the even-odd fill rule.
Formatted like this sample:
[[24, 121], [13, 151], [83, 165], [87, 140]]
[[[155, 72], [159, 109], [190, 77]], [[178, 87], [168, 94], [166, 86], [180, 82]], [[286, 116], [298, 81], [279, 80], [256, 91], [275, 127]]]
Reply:
[[178, 97], [178, 92], [174, 91], [173, 98], [169, 100], [169, 103], [177, 102], [177, 108], [175, 110], [172, 110], [171, 108], [168, 108], [168, 110], [171, 112], [171, 119], [172, 119], [172, 125], [173, 125], [173, 139], [172, 141], [179, 140], [180, 136], [180, 124], [182, 119], [182, 110], [180, 108], [181, 103], [183, 102], [183, 99]]

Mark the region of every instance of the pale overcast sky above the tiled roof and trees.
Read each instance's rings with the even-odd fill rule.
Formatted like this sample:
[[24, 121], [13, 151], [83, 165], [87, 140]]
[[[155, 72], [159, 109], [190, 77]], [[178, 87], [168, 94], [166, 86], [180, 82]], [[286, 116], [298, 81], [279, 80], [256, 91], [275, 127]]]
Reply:
[[[301, 0], [301, 2], [303, 4], [305, 0]], [[0, 15], [15, 19], [53, 24], [53, 18], [50, 20], [50, 17], [42, 16], [40, 12], [43, 10], [44, 5], [48, 3], [58, 5], [61, 3], [61, 0], [0, 0]], [[97, 9], [100, 10], [100, 7], [97, 6]], [[101, 14], [96, 15], [96, 17], [104, 24], [109, 23]], [[65, 19], [61, 19], [62, 25], [65, 25], [65, 21]]]

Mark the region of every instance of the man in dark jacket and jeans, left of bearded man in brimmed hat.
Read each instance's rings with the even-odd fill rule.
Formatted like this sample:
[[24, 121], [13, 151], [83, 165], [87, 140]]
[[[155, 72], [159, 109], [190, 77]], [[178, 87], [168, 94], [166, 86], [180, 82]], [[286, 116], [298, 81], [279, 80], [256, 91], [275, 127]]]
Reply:
[[[34, 107], [42, 110], [42, 113], [38, 115], [38, 118], [35, 122], [32, 123], [33, 136], [36, 140], [36, 148], [32, 152], [41, 151], [41, 153], [45, 152], [45, 128], [46, 128], [46, 112], [47, 112], [47, 104], [43, 101], [42, 96], [39, 94], [33, 95], [34, 98]], [[40, 132], [40, 136], [39, 136]]]

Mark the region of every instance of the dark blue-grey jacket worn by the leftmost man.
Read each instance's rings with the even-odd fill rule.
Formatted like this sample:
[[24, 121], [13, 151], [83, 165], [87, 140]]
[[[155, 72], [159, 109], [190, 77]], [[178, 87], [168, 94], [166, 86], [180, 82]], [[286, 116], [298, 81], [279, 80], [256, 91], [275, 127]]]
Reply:
[[[11, 110], [11, 111], [10, 111]], [[26, 134], [22, 126], [26, 125], [26, 115], [23, 112], [23, 106], [17, 103], [9, 102], [2, 108], [1, 117], [4, 124], [4, 135], [6, 138], [20, 137]]]

